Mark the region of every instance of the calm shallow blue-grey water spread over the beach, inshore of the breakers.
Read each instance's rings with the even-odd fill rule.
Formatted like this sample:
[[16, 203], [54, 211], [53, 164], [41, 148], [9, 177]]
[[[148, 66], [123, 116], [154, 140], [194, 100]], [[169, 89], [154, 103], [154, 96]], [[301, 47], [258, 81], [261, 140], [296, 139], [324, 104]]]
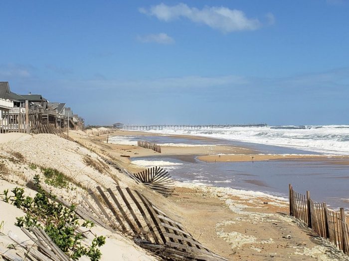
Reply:
[[[157, 144], [232, 145], [242, 146], [263, 154], [317, 154], [285, 147], [243, 143], [222, 139], [191, 139], [190, 136], [127, 136]], [[309, 190], [315, 201], [326, 202], [333, 208], [349, 209], [349, 166], [338, 159], [270, 160], [250, 162], [206, 163], [195, 156], [152, 156], [132, 158], [137, 165], [161, 165], [179, 181], [262, 191], [288, 197], [288, 184], [297, 192]]]

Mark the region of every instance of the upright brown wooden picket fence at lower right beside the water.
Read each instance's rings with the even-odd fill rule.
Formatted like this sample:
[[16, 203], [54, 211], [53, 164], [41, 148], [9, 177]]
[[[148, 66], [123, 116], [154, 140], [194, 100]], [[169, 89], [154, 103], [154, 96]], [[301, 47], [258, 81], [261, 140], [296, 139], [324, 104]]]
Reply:
[[289, 184], [290, 215], [303, 221], [319, 236], [330, 240], [338, 249], [349, 255], [349, 219], [344, 208], [333, 211], [326, 203], [315, 202], [310, 197], [293, 190]]

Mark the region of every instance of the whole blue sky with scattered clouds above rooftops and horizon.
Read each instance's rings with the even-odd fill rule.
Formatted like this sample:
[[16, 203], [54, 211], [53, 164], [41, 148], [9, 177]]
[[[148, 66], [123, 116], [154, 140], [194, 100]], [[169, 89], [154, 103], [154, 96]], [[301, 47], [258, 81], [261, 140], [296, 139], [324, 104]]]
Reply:
[[86, 124], [349, 124], [349, 0], [0, 9], [0, 81]]

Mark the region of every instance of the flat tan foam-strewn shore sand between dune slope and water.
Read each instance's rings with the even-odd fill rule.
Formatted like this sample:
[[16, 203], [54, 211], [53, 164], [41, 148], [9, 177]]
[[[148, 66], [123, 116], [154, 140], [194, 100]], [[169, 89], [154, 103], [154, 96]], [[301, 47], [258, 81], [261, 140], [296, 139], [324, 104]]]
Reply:
[[[136, 132], [119, 131], [113, 135], [121, 133], [134, 135]], [[193, 162], [196, 155], [212, 154], [206, 147], [164, 147], [163, 153], [159, 154], [137, 146], [107, 144], [106, 140], [107, 135], [101, 135], [84, 137], [80, 142], [110, 155], [114, 161], [131, 172], [144, 168], [130, 164], [130, 159], [121, 155], [174, 156], [179, 160]], [[239, 148], [212, 146], [211, 149], [217, 154], [229, 154], [229, 150]], [[242, 151], [239, 154], [245, 153], [246, 157], [253, 154], [245, 148]], [[173, 214], [172, 217], [181, 222], [195, 238], [231, 261], [348, 260], [328, 241], [317, 239], [308, 228], [289, 217], [288, 203], [277, 198], [255, 194], [253, 191], [247, 191], [246, 194], [243, 190], [185, 183], [176, 184], [173, 196], [162, 197], [161, 200], [158, 197], [154, 193], [153, 200], [168, 206], [167, 210]]]

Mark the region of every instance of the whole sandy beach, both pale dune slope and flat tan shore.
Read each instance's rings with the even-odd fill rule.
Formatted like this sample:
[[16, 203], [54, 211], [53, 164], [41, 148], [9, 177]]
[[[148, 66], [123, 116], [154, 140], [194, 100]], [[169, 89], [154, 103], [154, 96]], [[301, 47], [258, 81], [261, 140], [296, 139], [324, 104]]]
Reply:
[[[51, 134], [12, 134], [18, 137], [11, 136], [7, 142], [3, 140], [0, 144], [1, 157], [12, 172], [6, 175], [1, 174], [1, 179], [4, 180], [1, 181], [1, 190], [15, 185], [25, 186], [33, 174], [40, 172], [29, 169], [29, 163], [37, 166], [51, 166], [72, 178], [74, 190], [52, 187], [53, 191], [65, 200], [77, 203], [86, 193], [86, 188], [93, 189], [96, 185], [110, 187], [116, 181], [122, 187], [141, 189], [144, 195], [158, 207], [166, 210], [171, 218], [180, 222], [201, 244], [228, 260], [348, 260], [328, 241], [316, 237], [309, 228], [288, 215], [289, 206], [286, 197], [253, 190], [234, 189], [224, 184], [212, 186], [189, 181], [175, 181], [174, 194], [164, 197], [144, 186], [140, 187], [128, 176], [115, 172], [115, 169], [103, 164], [101, 159], [106, 157], [129, 172], [136, 173], [148, 168], [132, 163], [138, 157], [154, 157], [156, 154], [157, 157], [176, 157], [190, 162], [190, 159], [196, 156], [210, 157], [209, 155], [216, 153], [223, 157], [224, 154], [231, 154], [231, 151], [237, 153], [238, 157], [245, 155], [249, 159], [251, 155], [258, 156], [256, 151], [244, 147], [215, 144], [180, 145], [179, 147], [172, 144], [164, 146], [160, 155], [133, 144], [109, 143], [113, 140], [112, 137], [137, 135], [147, 139], [154, 134], [96, 129], [87, 132], [71, 131], [69, 135], [78, 143]], [[175, 139], [185, 137], [176, 136]], [[192, 137], [192, 140], [199, 143], [211, 142], [210, 139], [203, 137]], [[23, 163], [8, 160], [14, 152], [21, 152], [24, 157]], [[100, 161], [105, 171], [101, 173], [88, 167], [84, 162], [86, 155]], [[285, 157], [289, 160], [294, 159], [294, 155]], [[314, 157], [316, 156], [312, 156], [311, 160], [314, 160]], [[10, 218], [6, 218], [5, 221], [5, 231], [14, 230], [15, 227]], [[113, 248], [117, 248], [124, 258], [128, 256], [129, 260], [135, 260], [136, 256], [136, 260], [154, 259], [149, 252], [136, 246], [129, 239], [122, 237], [124, 244], [122, 247], [120, 236], [114, 236], [106, 230], [97, 228], [99, 233], [109, 235], [110, 238], [104, 247], [106, 251], [103, 253], [106, 254], [103, 254], [102, 260], [110, 260], [109, 255], [113, 254], [107, 249]], [[20, 232], [16, 231], [16, 233]]]

